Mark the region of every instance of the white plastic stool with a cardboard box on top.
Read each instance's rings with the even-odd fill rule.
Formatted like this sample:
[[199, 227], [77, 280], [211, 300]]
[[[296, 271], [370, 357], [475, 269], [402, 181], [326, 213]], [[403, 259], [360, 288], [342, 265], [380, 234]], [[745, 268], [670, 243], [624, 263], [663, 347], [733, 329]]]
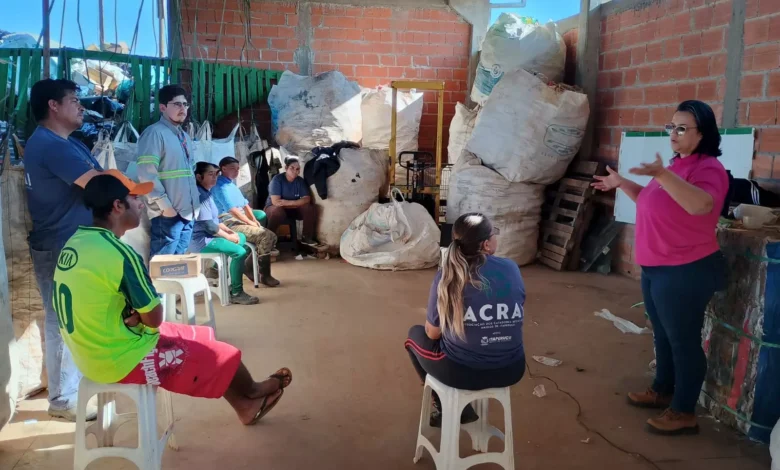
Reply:
[[[214, 329], [217, 334], [217, 322], [214, 317], [214, 306], [211, 304], [211, 286], [203, 274], [198, 277], [160, 277], [154, 280], [154, 288], [163, 295], [163, 307], [165, 308], [165, 320], [170, 322], [181, 321], [185, 325], [197, 325], [195, 311], [195, 295], [203, 292], [206, 297], [206, 321], [202, 323]], [[181, 319], [176, 318], [176, 296], [181, 297], [184, 312]]]

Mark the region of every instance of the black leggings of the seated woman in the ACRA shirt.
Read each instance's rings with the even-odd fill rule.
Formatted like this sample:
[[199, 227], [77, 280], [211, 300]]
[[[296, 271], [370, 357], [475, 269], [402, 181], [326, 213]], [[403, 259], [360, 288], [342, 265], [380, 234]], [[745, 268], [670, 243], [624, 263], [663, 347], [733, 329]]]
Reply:
[[500, 369], [474, 369], [449, 359], [441, 351], [439, 343], [440, 340], [430, 339], [425, 334], [425, 327], [422, 325], [409, 329], [405, 347], [409, 351], [417, 375], [423, 382], [425, 376], [431, 374], [448, 387], [484, 390], [509, 387], [519, 382], [525, 374], [525, 358]]

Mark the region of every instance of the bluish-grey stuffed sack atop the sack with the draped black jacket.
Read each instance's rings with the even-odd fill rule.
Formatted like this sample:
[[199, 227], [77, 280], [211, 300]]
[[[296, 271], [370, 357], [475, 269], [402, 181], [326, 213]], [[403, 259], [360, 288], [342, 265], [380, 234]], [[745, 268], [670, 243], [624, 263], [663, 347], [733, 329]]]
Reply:
[[308, 77], [286, 71], [268, 95], [274, 138], [299, 156], [314, 147], [360, 142], [360, 102], [360, 86], [341, 72]]

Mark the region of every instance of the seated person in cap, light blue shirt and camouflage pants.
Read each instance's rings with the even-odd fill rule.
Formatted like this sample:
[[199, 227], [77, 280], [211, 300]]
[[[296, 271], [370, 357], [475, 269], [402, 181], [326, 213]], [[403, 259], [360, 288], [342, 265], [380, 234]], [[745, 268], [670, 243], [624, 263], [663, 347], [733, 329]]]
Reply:
[[[263, 225], [265, 212], [252, 210], [241, 190], [236, 186], [239, 163], [233, 157], [225, 157], [219, 162], [220, 175], [217, 184], [211, 190], [214, 204], [219, 211], [220, 221], [225, 226], [246, 237], [246, 241], [257, 248], [260, 263], [260, 282], [268, 287], [276, 287], [279, 281], [271, 276], [271, 252], [276, 245], [276, 234]], [[251, 260], [246, 263], [244, 273], [254, 281]]]

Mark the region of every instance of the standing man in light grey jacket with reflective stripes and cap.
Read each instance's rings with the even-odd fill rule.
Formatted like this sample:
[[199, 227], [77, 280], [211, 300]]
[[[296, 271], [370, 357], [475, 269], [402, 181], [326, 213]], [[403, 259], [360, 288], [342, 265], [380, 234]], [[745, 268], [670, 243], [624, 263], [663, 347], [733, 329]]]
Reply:
[[160, 120], [138, 139], [138, 180], [154, 183], [154, 190], [146, 196], [152, 224], [151, 256], [180, 255], [187, 252], [200, 210], [192, 139], [181, 127], [189, 103], [178, 85], [162, 87], [159, 99]]

